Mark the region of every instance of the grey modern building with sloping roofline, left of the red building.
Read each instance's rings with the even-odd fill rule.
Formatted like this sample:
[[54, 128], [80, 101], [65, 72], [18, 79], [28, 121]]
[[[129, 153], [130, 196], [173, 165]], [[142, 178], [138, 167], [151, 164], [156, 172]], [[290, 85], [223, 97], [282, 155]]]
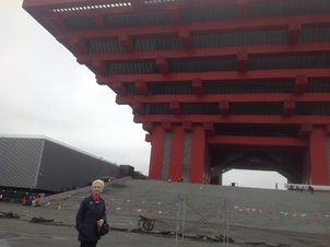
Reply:
[[0, 136], [0, 187], [59, 192], [118, 174], [115, 163], [44, 136]]

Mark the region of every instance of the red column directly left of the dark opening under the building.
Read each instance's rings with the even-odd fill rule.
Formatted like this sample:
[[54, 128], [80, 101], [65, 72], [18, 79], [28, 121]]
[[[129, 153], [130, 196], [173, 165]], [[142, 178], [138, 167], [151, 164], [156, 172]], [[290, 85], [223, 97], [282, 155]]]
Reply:
[[191, 130], [190, 183], [202, 184], [205, 162], [205, 131], [203, 126], [193, 126]]

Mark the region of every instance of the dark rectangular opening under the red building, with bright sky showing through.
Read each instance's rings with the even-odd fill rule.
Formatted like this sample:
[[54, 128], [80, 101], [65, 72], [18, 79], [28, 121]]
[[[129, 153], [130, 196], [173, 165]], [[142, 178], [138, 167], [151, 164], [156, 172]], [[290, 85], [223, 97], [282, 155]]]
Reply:
[[[228, 185], [227, 176], [233, 179], [233, 172], [237, 178], [229, 183], [244, 185], [244, 177], [255, 177], [255, 185], [247, 184], [244, 187], [258, 187], [262, 184], [262, 176], [273, 175], [281, 183], [302, 184], [305, 181], [304, 168], [305, 152], [303, 150], [249, 150], [249, 149], [223, 149], [210, 148], [210, 174], [209, 180], [213, 185]], [[245, 181], [247, 181], [246, 179]], [[279, 184], [278, 184], [279, 185]], [[259, 186], [262, 187], [261, 185]]]

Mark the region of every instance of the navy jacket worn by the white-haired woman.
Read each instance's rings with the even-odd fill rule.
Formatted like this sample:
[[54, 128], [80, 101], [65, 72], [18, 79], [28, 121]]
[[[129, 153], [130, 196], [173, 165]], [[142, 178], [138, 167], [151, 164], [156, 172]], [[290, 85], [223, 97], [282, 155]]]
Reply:
[[[96, 234], [96, 221], [103, 219], [106, 222], [105, 211], [105, 201], [102, 198], [98, 202], [95, 202], [90, 196], [81, 201], [75, 216], [75, 228], [79, 232], [78, 240], [95, 242], [101, 238]], [[96, 215], [98, 219], [96, 219]]]

